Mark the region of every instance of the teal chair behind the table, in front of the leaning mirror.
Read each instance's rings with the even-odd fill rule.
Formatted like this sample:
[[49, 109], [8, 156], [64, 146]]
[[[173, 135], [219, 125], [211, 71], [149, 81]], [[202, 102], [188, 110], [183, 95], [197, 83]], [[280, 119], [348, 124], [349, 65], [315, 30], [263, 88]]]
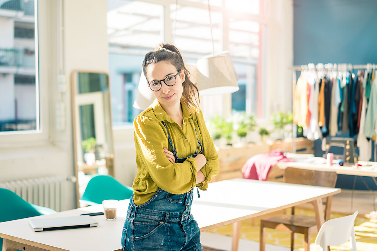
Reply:
[[133, 190], [119, 183], [112, 176], [96, 175], [90, 179], [80, 202], [86, 205], [102, 204], [105, 199], [129, 199]]

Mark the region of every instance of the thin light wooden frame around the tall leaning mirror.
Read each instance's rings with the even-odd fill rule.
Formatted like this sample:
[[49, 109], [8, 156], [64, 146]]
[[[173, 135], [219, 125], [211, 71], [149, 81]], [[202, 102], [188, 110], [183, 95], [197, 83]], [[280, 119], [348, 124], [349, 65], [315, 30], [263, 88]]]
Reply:
[[[73, 154], [74, 154], [74, 161], [75, 161], [75, 176], [76, 176], [76, 204], [77, 208], [80, 208], [80, 192], [79, 192], [79, 186], [78, 186], [78, 163], [77, 163], [77, 143], [76, 143], [76, 138], [77, 138], [77, 131], [76, 131], [76, 102], [75, 102], [75, 96], [76, 96], [76, 88], [75, 88], [75, 75], [77, 73], [100, 73], [100, 74], [106, 74], [108, 79], [109, 79], [109, 107], [110, 107], [110, 135], [112, 139], [112, 149], [114, 152], [114, 136], [113, 136], [113, 129], [112, 129], [112, 123], [113, 123], [113, 118], [112, 118], [112, 105], [111, 105], [111, 82], [110, 82], [110, 75], [106, 71], [89, 71], [89, 70], [73, 70], [70, 75], [70, 87], [71, 87], [71, 105], [72, 105], [72, 131], [73, 131], [73, 138], [72, 138], [72, 144], [73, 144]], [[112, 166], [114, 165], [114, 153], [112, 160], [106, 160], [106, 165], [107, 161], [111, 162]], [[112, 175], [115, 177], [115, 172], [110, 173], [109, 175]]]

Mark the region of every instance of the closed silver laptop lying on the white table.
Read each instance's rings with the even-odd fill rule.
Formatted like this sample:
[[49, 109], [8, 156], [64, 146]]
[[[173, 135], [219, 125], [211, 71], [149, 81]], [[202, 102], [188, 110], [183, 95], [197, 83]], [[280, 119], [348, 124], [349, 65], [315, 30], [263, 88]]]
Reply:
[[70, 228], [97, 227], [98, 222], [89, 215], [30, 219], [29, 226], [35, 231], [61, 230]]

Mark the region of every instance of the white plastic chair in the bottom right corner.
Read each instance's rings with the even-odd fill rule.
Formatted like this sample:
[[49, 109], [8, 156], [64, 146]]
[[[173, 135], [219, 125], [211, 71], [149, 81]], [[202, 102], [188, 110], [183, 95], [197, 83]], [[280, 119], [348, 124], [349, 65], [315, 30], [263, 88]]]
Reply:
[[351, 251], [356, 250], [354, 221], [359, 212], [326, 221], [317, 234], [315, 243], [320, 245], [321, 251], [327, 251], [327, 246], [336, 246], [347, 242]]

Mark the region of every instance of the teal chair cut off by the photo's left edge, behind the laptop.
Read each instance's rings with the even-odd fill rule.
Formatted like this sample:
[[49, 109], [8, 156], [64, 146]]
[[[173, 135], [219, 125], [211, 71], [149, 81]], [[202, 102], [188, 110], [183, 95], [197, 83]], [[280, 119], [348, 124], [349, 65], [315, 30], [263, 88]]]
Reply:
[[[50, 208], [32, 205], [14, 192], [4, 188], [0, 188], [0, 200], [4, 203], [0, 207], [0, 222], [56, 213]], [[0, 247], [2, 246], [3, 239], [0, 238]]]

